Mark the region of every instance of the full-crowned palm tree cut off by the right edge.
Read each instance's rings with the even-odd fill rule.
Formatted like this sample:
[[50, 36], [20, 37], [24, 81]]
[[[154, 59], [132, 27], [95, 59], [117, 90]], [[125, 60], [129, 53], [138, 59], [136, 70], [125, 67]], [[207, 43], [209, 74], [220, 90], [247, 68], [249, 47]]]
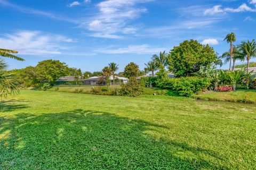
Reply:
[[253, 39], [251, 42], [249, 40], [247, 42], [242, 42], [242, 44], [239, 45], [239, 47], [242, 50], [242, 53], [244, 55], [244, 59], [247, 60], [247, 69], [246, 69], [246, 71], [249, 72], [250, 59], [253, 56], [256, 56], [256, 42], [255, 42], [255, 39]]

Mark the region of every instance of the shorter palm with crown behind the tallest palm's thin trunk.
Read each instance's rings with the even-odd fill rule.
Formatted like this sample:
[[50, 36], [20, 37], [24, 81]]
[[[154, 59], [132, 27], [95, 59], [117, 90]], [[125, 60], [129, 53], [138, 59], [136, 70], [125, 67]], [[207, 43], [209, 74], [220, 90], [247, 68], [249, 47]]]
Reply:
[[[224, 58], [225, 59], [225, 63], [227, 62], [230, 62], [230, 59], [231, 59], [231, 52], [230, 50], [228, 52], [225, 52], [222, 54], [221, 58]], [[239, 48], [238, 46], [233, 46], [233, 68], [232, 70], [235, 69], [235, 62], [236, 60], [241, 60], [243, 61], [244, 60], [244, 55], [243, 53], [241, 52], [241, 48]]]

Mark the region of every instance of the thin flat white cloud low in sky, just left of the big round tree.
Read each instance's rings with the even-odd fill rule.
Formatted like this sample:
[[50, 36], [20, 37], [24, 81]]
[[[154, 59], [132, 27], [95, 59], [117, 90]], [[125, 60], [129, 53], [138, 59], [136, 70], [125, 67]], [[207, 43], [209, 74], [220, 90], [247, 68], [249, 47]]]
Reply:
[[96, 52], [106, 53], [106, 54], [154, 54], [159, 51], [164, 51], [164, 48], [158, 48], [154, 46], [150, 46], [148, 44], [142, 45], [129, 45], [127, 47], [119, 47], [119, 48], [103, 48], [97, 50]]

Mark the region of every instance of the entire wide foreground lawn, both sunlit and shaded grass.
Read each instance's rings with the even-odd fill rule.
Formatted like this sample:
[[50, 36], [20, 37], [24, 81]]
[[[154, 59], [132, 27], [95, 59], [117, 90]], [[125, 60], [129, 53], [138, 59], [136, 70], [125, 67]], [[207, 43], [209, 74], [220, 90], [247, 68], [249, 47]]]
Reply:
[[21, 91], [0, 102], [0, 169], [255, 169], [256, 105]]

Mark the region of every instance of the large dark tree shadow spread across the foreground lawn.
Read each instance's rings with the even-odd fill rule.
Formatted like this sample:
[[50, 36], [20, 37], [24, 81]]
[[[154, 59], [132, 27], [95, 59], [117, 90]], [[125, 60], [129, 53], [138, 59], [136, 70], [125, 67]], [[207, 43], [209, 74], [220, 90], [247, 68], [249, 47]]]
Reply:
[[164, 126], [108, 112], [21, 113], [0, 125], [0, 169], [225, 169], [205, 160], [221, 160], [211, 150], [149, 134]]

